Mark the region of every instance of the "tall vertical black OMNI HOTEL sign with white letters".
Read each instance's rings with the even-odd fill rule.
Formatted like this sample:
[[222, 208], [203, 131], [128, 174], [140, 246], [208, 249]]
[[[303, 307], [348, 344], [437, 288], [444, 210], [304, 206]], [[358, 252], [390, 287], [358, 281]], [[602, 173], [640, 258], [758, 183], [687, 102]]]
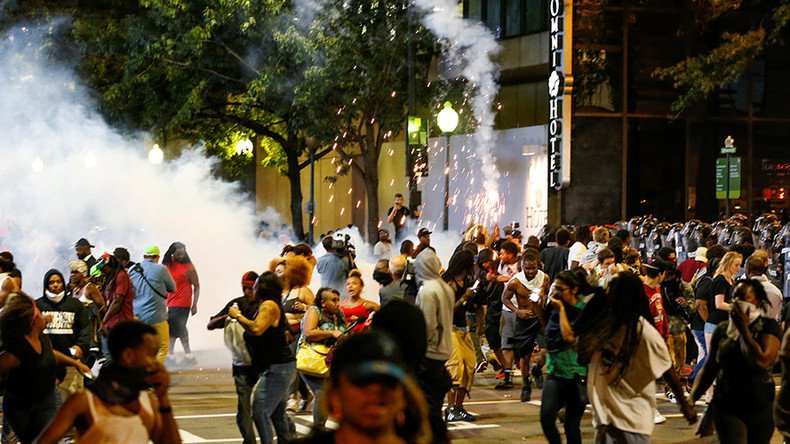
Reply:
[[560, 190], [571, 179], [571, 42], [573, 6], [549, 0], [549, 187]]

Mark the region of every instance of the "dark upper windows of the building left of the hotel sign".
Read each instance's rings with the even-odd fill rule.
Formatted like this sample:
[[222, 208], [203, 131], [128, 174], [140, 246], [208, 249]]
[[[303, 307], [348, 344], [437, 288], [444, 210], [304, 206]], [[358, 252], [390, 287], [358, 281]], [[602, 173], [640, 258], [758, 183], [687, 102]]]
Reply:
[[497, 39], [548, 29], [548, 0], [464, 0], [464, 17], [483, 22]]

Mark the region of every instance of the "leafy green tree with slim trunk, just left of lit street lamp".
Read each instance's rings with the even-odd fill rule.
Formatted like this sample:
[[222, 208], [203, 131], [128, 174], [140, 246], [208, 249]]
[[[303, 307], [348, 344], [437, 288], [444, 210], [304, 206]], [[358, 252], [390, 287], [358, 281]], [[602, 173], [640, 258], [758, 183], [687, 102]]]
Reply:
[[314, 124], [312, 134], [331, 140], [346, 167], [365, 183], [371, 243], [378, 232], [381, 147], [405, 129], [410, 13], [415, 14], [411, 38], [416, 106], [427, 106], [428, 68], [436, 39], [416, 25], [419, 17], [409, 11], [408, 0], [327, 2], [310, 39], [317, 59], [301, 86], [304, 108], [309, 108]]

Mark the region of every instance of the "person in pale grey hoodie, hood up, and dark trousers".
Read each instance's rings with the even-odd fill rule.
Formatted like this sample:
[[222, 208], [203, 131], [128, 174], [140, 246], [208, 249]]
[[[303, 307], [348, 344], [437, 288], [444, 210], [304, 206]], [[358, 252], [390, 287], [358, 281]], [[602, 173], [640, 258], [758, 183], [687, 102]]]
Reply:
[[445, 363], [453, 353], [453, 305], [455, 292], [439, 275], [441, 264], [436, 252], [426, 248], [414, 261], [420, 290], [416, 305], [425, 317], [428, 337], [425, 358], [417, 379], [428, 401], [428, 421], [434, 442], [447, 441], [447, 425], [442, 417], [444, 397], [452, 387]]

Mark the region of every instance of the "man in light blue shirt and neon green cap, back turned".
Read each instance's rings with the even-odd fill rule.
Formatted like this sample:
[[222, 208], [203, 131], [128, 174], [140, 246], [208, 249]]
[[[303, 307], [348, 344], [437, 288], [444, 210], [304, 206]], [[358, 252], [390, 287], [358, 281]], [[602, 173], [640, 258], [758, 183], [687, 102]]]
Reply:
[[145, 248], [143, 261], [129, 267], [129, 278], [134, 285], [134, 315], [156, 330], [159, 341], [156, 359], [164, 363], [170, 341], [167, 293], [176, 290], [176, 282], [167, 268], [159, 263], [159, 247], [149, 245]]

